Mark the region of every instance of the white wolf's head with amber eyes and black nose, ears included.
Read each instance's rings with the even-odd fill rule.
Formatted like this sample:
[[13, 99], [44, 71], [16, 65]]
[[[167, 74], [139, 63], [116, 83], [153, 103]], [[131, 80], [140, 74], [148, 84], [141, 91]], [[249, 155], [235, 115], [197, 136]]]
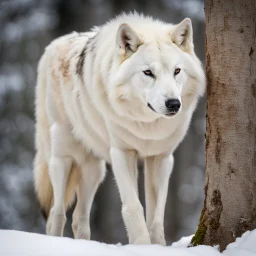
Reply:
[[178, 25], [121, 24], [109, 100], [120, 116], [151, 121], [175, 117], [204, 92], [189, 18]]

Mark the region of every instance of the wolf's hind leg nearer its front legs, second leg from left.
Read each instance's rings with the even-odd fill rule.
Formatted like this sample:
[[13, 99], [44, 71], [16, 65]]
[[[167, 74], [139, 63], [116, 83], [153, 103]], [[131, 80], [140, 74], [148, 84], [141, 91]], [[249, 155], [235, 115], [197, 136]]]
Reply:
[[95, 193], [106, 173], [105, 162], [89, 156], [79, 167], [81, 179], [77, 188], [77, 204], [73, 213], [74, 237], [90, 239], [90, 211]]

